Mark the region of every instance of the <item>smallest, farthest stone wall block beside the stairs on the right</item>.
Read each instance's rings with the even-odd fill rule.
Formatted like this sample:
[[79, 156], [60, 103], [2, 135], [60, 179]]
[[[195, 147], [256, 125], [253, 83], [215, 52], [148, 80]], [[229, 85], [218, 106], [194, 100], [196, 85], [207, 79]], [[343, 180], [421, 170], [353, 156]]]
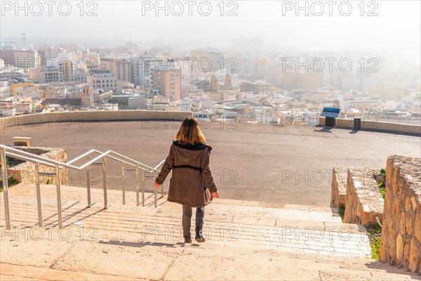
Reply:
[[332, 192], [330, 193], [330, 207], [339, 208], [345, 206], [347, 200], [348, 168], [333, 168]]

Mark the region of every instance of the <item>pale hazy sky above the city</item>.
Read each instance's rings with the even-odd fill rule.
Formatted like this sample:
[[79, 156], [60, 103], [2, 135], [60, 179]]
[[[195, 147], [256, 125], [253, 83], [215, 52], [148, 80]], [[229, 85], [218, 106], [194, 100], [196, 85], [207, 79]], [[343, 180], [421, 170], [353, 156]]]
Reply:
[[[296, 11], [297, 1], [190, 1], [195, 2], [192, 6], [188, 1], [176, 4], [159, 1], [160, 6], [167, 5], [168, 15], [165, 11], [156, 11], [156, 1], [84, 1], [82, 16], [77, 6], [81, 1], [69, 1], [72, 10], [67, 16], [64, 15], [68, 11], [65, 1], [53, 1], [51, 15], [48, 15], [46, 1], [38, 4], [20, 1], [20, 6], [25, 7], [26, 2], [27, 8], [19, 11], [15, 1], [1, 2], [2, 41], [18, 37], [23, 31], [29, 41], [58, 37], [147, 43], [159, 39], [168, 44], [217, 47], [231, 46], [235, 37], [260, 37], [268, 48], [396, 51], [407, 57], [420, 57], [421, 1], [417, 0], [331, 1], [333, 6], [327, 1], [299, 1], [302, 7], [307, 3], [309, 15], [305, 15], [305, 10]], [[59, 13], [59, 5], [63, 15]], [[210, 15], [201, 15], [207, 13], [208, 6], [212, 8]], [[220, 15], [221, 6], [225, 7], [223, 15]], [[349, 6], [352, 11], [345, 16]], [[176, 16], [180, 7], [184, 11]], [[191, 16], [189, 7], [192, 7]], [[321, 8], [323, 14], [317, 16]], [[329, 15], [330, 8], [333, 15]], [[24, 14], [25, 9], [28, 15]], [[90, 10], [97, 15], [88, 16]], [[227, 16], [229, 11], [236, 15]], [[368, 16], [370, 12], [377, 15]]]

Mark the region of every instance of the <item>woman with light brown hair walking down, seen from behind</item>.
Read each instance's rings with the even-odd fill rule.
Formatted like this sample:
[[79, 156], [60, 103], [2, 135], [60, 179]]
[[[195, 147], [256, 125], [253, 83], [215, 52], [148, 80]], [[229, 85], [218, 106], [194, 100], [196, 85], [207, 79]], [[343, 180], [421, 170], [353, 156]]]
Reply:
[[212, 148], [206, 144], [199, 123], [193, 117], [184, 119], [175, 139], [177, 141], [173, 141], [161, 173], [155, 180], [155, 187], [161, 188], [166, 176], [173, 169], [167, 200], [182, 204], [182, 233], [185, 243], [192, 242], [192, 207], [196, 207], [195, 240], [205, 242], [202, 236], [205, 206], [210, 204], [213, 197], [219, 198], [209, 167]]

